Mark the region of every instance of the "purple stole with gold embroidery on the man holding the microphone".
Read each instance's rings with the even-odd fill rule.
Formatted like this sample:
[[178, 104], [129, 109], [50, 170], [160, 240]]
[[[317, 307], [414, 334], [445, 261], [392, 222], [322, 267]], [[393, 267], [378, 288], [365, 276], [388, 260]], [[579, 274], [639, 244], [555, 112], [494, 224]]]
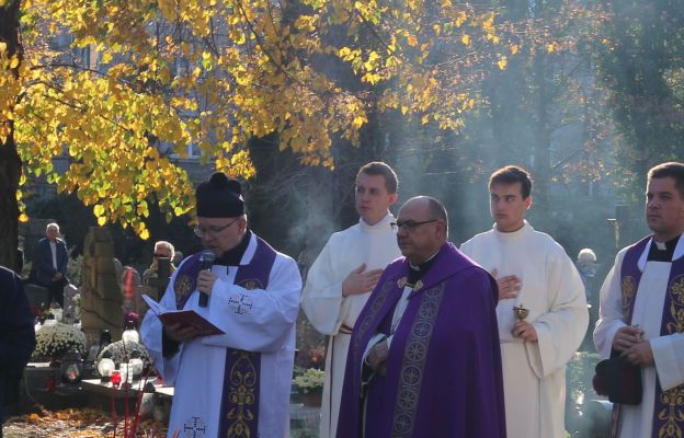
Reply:
[[[238, 266], [233, 285], [247, 290], [266, 289], [276, 254], [265, 241], [256, 238], [256, 251], [252, 262]], [[198, 274], [200, 254], [194, 254], [181, 265], [173, 284], [178, 309], [185, 306], [195, 290]], [[224, 372], [219, 436], [256, 437], [261, 353], [226, 348]]]

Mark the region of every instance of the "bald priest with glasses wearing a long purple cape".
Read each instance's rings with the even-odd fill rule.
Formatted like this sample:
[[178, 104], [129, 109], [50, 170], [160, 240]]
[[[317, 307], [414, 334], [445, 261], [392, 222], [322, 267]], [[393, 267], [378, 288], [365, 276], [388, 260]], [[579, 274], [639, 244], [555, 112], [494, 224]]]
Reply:
[[437, 199], [397, 219], [404, 257], [356, 320], [338, 437], [505, 437], [493, 278], [447, 242]]

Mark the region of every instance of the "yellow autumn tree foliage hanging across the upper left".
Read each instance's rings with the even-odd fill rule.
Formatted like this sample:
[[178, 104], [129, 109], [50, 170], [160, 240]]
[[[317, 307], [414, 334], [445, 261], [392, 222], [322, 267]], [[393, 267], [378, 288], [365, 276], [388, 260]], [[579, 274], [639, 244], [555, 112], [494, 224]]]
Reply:
[[[119, 221], [142, 238], [150, 199], [170, 216], [192, 208], [187, 175], [164, 149], [183, 155], [194, 145], [206, 163], [250, 177], [247, 140], [276, 132], [304, 164], [332, 168], [332, 138], [358, 145], [371, 102], [458, 129], [478, 103], [485, 66], [501, 61], [493, 11], [448, 0], [403, 9], [332, 0], [2, 3], [2, 80], [12, 84], [0, 91], [2, 147], [15, 148], [27, 178], [77, 193], [100, 223]], [[328, 38], [332, 32], [343, 37]], [[54, 53], [58, 35], [91, 56]], [[335, 57], [369, 87], [345, 88], [317, 57]], [[61, 153], [65, 173], [52, 166]], [[21, 162], [2, 165], [18, 175]], [[16, 217], [13, 208], [7, 214]], [[12, 220], [4, 235], [15, 239]]]

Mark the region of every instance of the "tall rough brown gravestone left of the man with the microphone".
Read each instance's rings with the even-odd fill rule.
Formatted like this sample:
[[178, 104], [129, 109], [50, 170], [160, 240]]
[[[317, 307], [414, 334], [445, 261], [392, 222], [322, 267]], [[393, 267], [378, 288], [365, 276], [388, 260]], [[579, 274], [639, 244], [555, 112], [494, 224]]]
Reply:
[[88, 345], [105, 328], [114, 341], [121, 339], [124, 299], [114, 264], [114, 243], [106, 228], [91, 227], [86, 235], [80, 293], [81, 327]]

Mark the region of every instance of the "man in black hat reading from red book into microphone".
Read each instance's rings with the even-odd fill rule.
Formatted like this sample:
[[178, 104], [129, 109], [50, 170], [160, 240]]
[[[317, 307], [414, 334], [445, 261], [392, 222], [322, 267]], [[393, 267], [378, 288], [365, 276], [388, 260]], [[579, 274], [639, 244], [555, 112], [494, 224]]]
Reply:
[[237, 181], [215, 173], [196, 200], [195, 233], [206, 250], [181, 263], [160, 304], [194, 310], [225, 333], [201, 336], [147, 312], [142, 341], [175, 388], [168, 436], [286, 438], [297, 264], [248, 229]]

